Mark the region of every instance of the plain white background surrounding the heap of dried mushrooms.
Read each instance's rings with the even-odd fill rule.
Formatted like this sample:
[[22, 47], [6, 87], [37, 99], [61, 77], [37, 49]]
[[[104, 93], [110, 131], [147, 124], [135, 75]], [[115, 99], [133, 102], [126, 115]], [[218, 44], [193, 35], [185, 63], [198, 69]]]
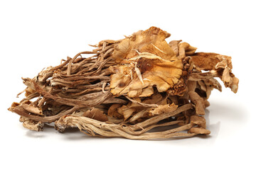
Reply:
[[[255, 169], [253, 1], [1, 1], [0, 169]], [[233, 57], [238, 94], [213, 91], [209, 137], [126, 140], [80, 132], [26, 130], [7, 111], [44, 67], [91, 50], [88, 44], [156, 26], [198, 52]]]

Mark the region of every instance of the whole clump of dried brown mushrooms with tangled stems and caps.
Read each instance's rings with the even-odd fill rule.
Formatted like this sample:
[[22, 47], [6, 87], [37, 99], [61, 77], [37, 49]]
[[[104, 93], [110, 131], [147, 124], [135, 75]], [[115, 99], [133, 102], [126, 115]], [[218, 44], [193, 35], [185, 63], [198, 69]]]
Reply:
[[169, 36], [151, 27], [123, 40], [102, 40], [95, 50], [23, 78], [26, 97], [9, 111], [38, 131], [54, 122], [60, 132], [78, 128], [134, 140], [208, 135], [207, 100], [213, 89], [222, 91], [215, 78], [238, 91], [231, 57], [196, 52], [181, 40], [167, 43]]

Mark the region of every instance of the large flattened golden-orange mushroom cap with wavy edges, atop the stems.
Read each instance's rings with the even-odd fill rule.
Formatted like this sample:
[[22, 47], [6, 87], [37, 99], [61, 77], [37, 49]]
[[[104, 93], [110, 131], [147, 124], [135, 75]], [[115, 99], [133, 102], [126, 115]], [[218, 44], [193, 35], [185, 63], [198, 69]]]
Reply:
[[178, 83], [183, 64], [165, 41], [165, 31], [151, 27], [125, 38], [114, 49], [112, 57], [118, 66], [110, 81], [111, 93], [129, 97], [151, 96], [152, 86], [159, 92]]

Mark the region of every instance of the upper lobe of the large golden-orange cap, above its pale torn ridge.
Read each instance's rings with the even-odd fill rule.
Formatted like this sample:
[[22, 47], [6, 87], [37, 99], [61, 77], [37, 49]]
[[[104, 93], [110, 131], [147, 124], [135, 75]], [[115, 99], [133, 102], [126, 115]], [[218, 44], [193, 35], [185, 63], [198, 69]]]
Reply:
[[149, 52], [157, 55], [164, 60], [175, 60], [176, 55], [165, 41], [170, 36], [160, 28], [151, 27], [147, 30], [139, 30], [132, 36], [125, 38], [114, 49], [113, 56], [118, 62], [129, 60], [137, 56], [139, 52]]

